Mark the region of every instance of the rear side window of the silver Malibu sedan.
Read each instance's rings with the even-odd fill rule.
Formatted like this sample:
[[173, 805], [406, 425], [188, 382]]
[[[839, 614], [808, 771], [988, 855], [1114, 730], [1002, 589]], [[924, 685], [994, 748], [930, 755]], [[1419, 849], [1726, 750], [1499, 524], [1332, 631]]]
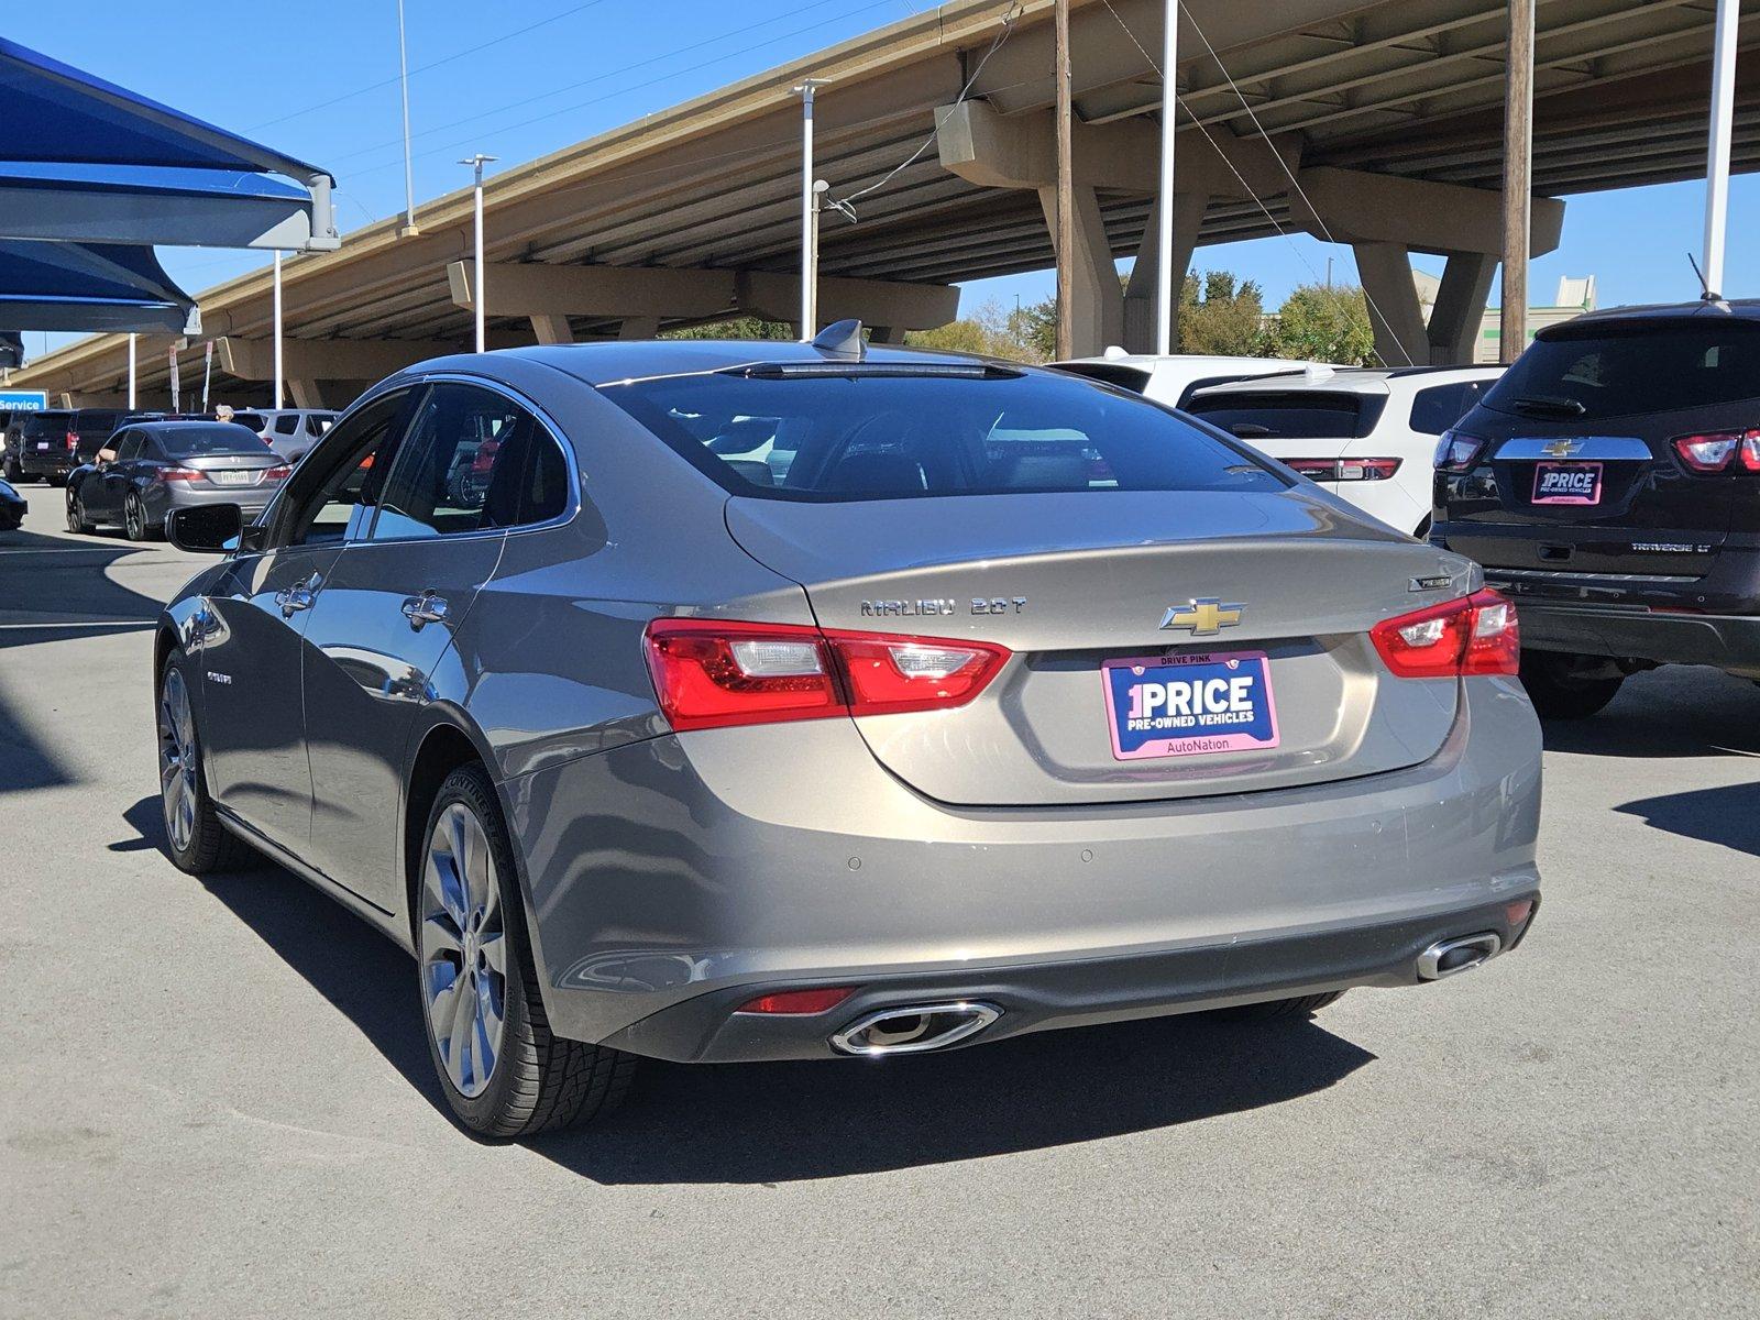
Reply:
[[537, 421], [477, 385], [440, 382], [422, 398], [385, 482], [373, 540], [514, 526]]

